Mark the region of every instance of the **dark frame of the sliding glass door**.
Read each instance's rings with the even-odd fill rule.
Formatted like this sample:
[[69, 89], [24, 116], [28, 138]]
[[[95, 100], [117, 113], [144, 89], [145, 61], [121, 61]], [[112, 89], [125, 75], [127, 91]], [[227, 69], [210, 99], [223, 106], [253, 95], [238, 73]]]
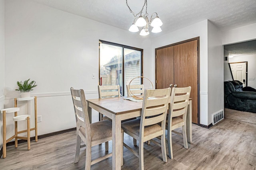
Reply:
[[[123, 92], [123, 94], [124, 94], [124, 86], [126, 85], [126, 84], [124, 84], [124, 49], [132, 49], [132, 50], [136, 50], [136, 51], [140, 51], [140, 53], [141, 53], [141, 76], [143, 76], [144, 74], [143, 74], [143, 66], [144, 66], [144, 62], [143, 62], [143, 49], [140, 49], [140, 48], [137, 48], [137, 47], [131, 47], [131, 46], [128, 46], [128, 45], [123, 45], [123, 44], [118, 44], [118, 43], [112, 43], [112, 42], [109, 42], [109, 41], [104, 41], [104, 40], [100, 40], [99, 39], [99, 66], [98, 66], [98, 68], [99, 68], [99, 74], [98, 74], [98, 76], [99, 76], [99, 82], [98, 82], [98, 84], [99, 85], [101, 85], [100, 84], [100, 44], [101, 43], [104, 43], [104, 44], [107, 44], [107, 45], [114, 45], [114, 46], [117, 46], [117, 47], [122, 47], [122, 92]], [[143, 84], [143, 78], [141, 78], [141, 83]], [[121, 89], [120, 89], [121, 90]], [[123, 94], [122, 94], [122, 96], [123, 96]]]

